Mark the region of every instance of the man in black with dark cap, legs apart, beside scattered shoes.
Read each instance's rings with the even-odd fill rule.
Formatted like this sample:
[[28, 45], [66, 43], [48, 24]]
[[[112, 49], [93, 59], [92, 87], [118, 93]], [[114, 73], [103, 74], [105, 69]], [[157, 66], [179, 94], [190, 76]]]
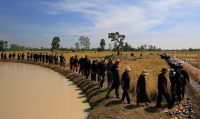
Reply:
[[158, 75], [158, 98], [156, 102], [156, 107], [161, 108], [162, 95], [164, 95], [168, 103], [168, 108], [171, 109], [172, 105], [171, 105], [171, 100], [170, 100], [168, 89], [167, 89], [167, 78], [165, 77], [166, 73], [167, 73], [167, 69], [162, 68], [162, 73]]

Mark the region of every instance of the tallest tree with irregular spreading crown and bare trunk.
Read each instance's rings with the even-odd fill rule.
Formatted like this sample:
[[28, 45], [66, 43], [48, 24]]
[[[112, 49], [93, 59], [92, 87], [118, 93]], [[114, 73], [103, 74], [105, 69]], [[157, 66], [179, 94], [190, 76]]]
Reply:
[[111, 41], [117, 41], [119, 43], [119, 45], [117, 46], [118, 49], [118, 53], [117, 55], [120, 55], [120, 48], [121, 48], [121, 43], [125, 38], [125, 35], [120, 35], [119, 32], [115, 32], [115, 33], [108, 33], [108, 38], [112, 38]]

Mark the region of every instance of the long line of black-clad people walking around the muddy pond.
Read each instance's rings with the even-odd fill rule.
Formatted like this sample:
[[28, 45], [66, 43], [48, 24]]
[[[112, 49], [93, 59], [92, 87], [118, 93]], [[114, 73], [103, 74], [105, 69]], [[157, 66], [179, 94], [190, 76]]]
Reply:
[[[14, 60], [16, 57], [15, 52], [13, 54], [9, 54], [9, 60]], [[25, 54], [18, 53], [17, 54], [18, 60], [24, 60]], [[60, 66], [66, 66], [66, 60], [61, 54], [60, 57]], [[42, 62], [42, 63], [49, 63], [49, 64], [58, 64], [58, 55], [55, 54], [38, 54], [36, 53], [27, 53], [27, 61], [34, 61], [34, 62]], [[142, 55], [141, 55], [142, 57]], [[156, 107], [161, 108], [161, 100], [162, 95], [166, 98], [166, 101], [168, 103], [168, 108], [172, 108], [175, 102], [175, 97], [177, 96], [179, 103], [181, 103], [181, 100], [184, 99], [184, 93], [185, 93], [185, 86], [186, 86], [186, 80], [188, 82], [190, 81], [189, 76], [186, 72], [186, 70], [183, 68], [183, 64], [181, 62], [178, 62], [177, 60], [173, 59], [171, 56], [164, 54], [161, 55], [161, 58], [165, 59], [171, 69], [162, 68], [161, 73], [158, 75], [158, 97], [156, 102]], [[1, 60], [6, 60], [6, 53], [1, 54]], [[99, 61], [98, 58], [93, 60], [92, 63], [90, 61], [90, 58], [85, 55], [82, 56], [80, 59], [78, 59], [77, 55], [73, 55], [69, 59], [70, 64], [70, 70], [79, 72], [80, 74], [86, 76], [86, 78], [89, 78], [91, 76], [91, 81], [98, 82], [99, 88], [104, 88], [104, 80], [107, 76], [107, 84], [108, 84], [108, 93], [106, 95], [106, 98], [109, 97], [109, 94], [112, 90], [115, 90], [116, 98], [120, 98], [121, 101], [126, 101], [129, 104], [132, 104], [130, 101], [130, 97], [128, 94], [128, 90], [130, 89], [130, 71], [131, 68], [129, 66], [126, 66], [124, 68], [124, 73], [120, 76], [120, 69], [119, 69], [119, 63], [120, 59], [116, 59], [114, 62], [110, 58], [108, 60], [108, 63], [106, 63], [106, 60], [104, 58], [101, 58]], [[78, 71], [79, 67], [79, 71]], [[170, 98], [168, 89], [167, 89], [167, 77], [165, 76], [166, 73], [169, 72], [169, 79], [171, 82], [171, 94], [172, 99]], [[106, 75], [107, 74], [107, 75]], [[151, 103], [151, 100], [147, 94], [146, 90], [146, 76], [149, 75], [146, 70], [141, 71], [140, 76], [137, 81], [137, 106], [139, 106], [139, 103], [145, 103], [148, 105], [148, 103]], [[97, 76], [97, 77], [96, 77]], [[97, 79], [97, 80], [96, 80]], [[122, 87], [123, 93], [122, 97], [119, 96], [119, 87]]]

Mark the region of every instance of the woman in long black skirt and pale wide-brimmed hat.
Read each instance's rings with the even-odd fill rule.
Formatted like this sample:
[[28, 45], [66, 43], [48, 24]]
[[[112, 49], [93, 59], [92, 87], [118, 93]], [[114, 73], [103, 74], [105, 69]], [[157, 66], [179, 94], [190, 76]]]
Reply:
[[147, 91], [146, 91], [145, 76], [148, 75], [148, 74], [149, 73], [147, 73], [146, 70], [143, 70], [140, 73], [140, 77], [138, 78], [138, 82], [137, 82], [137, 106], [139, 106], [139, 103], [143, 103], [143, 102], [145, 102], [146, 105], [148, 105], [148, 103], [151, 103], [149, 96], [147, 94]]

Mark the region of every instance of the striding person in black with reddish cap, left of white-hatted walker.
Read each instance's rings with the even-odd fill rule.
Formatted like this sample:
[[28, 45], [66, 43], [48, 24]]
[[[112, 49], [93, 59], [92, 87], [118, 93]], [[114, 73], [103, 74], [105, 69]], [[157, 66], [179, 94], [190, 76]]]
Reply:
[[115, 64], [113, 64], [112, 66], [112, 86], [111, 88], [109, 89], [107, 95], [106, 95], [106, 98], [108, 98], [110, 92], [115, 89], [115, 95], [116, 95], [116, 98], [120, 98], [119, 97], [119, 86], [120, 86], [120, 69], [118, 67], [119, 63], [120, 63], [120, 59], [116, 59], [115, 60]]

